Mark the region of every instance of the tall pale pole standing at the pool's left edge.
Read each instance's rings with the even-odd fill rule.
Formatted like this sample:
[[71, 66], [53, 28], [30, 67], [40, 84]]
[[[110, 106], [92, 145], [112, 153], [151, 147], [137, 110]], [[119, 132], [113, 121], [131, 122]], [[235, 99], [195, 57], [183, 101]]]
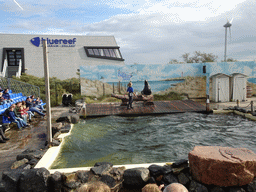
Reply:
[[45, 95], [46, 95], [46, 115], [47, 115], [47, 141], [52, 142], [52, 125], [51, 125], [51, 99], [50, 99], [50, 83], [49, 83], [49, 68], [48, 68], [48, 50], [46, 41], [43, 40], [44, 54], [44, 79], [45, 79]]

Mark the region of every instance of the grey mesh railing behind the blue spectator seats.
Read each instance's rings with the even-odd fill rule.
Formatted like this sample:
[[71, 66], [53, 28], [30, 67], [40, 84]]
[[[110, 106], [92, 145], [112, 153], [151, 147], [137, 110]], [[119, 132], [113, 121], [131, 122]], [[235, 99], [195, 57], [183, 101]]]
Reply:
[[5, 77], [0, 77], [0, 85], [2, 89], [11, 89], [13, 93], [22, 93], [24, 96], [34, 95], [35, 97], [40, 97], [40, 88], [35, 85]]

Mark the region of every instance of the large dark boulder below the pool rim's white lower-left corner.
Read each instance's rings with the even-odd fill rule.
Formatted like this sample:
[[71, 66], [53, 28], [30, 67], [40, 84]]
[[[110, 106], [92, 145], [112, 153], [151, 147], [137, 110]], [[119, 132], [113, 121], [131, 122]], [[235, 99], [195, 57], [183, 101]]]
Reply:
[[50, 172], [46, 168], [30, 169], [22, 172], [20, 190], [33, 192], [47, 192]]

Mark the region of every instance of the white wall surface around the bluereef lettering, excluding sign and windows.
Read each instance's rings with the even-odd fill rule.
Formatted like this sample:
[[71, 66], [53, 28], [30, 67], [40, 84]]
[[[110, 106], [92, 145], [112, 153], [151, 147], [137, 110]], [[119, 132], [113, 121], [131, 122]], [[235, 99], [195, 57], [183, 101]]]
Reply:
[[36, 47], [30, 40], [34, 37], [49, 39], [76, 38], [75, 47], [48, 47], [50, 77], [67, 79], [78, 77], [77, 69], [82, 65], [115, 65], [123, 61], [87, 57], [84, 46], [118, 46], [114, 36], [79, 36], [79, 35], [29, 35], [0, 34], [0, 61], [2, 67], [3, 48], [24, 48], [26, 73], [38, 77], [44, 76], [43, 48]]

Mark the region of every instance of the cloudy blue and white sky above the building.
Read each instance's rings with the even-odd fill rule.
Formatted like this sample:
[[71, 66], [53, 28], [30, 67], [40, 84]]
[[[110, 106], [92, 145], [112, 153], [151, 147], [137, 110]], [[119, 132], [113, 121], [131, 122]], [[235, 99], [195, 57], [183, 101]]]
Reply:
[[[166, 64], [184, 53], [256, 60], [255, 0], [0, 0], [0, 33], [111, 35], [126, 64]], [[1, 42], [0, 42], [1, 43]]]

